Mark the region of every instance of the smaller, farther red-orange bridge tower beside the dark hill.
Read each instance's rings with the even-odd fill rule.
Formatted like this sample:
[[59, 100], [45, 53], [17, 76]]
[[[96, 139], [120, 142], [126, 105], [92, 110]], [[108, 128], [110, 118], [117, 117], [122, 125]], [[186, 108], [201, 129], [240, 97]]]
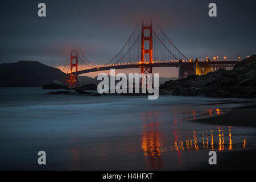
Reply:
[[78, 53], [77, 50], [71, 51], [71, 64], [70, 64], [70, 73], [68, 74], [68, 86], [75, 87], [79, 86], [79, 81], [77, 79], [77, 75], [73, 75], [73, 67], [75, 67], [76, 72], [78, 71]]

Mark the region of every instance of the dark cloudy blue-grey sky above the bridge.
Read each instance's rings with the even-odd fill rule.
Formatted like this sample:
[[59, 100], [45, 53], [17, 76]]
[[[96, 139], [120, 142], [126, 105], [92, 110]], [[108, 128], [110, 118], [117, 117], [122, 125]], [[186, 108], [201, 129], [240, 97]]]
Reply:
[[[38, 17], [38, 3], [47, 17]], [[217, 4], [217, 17], [208, 5]], [[61, 68], [79, 46], [96, 64], [126, 42], [142, 18], [152, 18], [189, 59], [256, 53], [256, 1], [5, 1], [0, 5], [0, 63], [37, 60]], [[172, 76], [172, 75], [171, 75]]]

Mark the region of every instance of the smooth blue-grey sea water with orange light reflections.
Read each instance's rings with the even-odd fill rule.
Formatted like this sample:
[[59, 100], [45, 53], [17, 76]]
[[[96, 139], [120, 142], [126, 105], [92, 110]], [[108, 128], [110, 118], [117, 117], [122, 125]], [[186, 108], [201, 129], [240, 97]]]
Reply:
[[[238, 104], [204, 97], [45, 95], [0, 88], [0, 169], [179, 170], [255, 150], [255, 129], [198, 123]], [[222, 100], [228, 101], [228, 100]], [[38, 164], [46, 151], [46, 165]]]

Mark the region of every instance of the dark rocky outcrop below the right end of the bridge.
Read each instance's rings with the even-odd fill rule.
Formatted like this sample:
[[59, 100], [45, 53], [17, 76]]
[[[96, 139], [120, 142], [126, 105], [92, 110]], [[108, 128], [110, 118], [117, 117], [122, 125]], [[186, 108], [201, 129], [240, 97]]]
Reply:
[[256, 55], [242, 60], [234, 69], [218, 69], [207, 75], [189, 75], [159, 86], [160, 94], [174, 96], [256, 98]]

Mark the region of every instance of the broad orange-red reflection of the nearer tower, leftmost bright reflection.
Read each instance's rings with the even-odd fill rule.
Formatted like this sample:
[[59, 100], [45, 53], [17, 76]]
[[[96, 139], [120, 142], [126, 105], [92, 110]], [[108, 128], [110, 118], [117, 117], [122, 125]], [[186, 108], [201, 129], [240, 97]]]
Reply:
[[158, 130], [159, 123], [151, 123], [157, 121], [156, 112], [142, 113], [143, 133], [141, 137], [141, 148], [145, 156], [148, 169], [162, 168], [162, 133]]

